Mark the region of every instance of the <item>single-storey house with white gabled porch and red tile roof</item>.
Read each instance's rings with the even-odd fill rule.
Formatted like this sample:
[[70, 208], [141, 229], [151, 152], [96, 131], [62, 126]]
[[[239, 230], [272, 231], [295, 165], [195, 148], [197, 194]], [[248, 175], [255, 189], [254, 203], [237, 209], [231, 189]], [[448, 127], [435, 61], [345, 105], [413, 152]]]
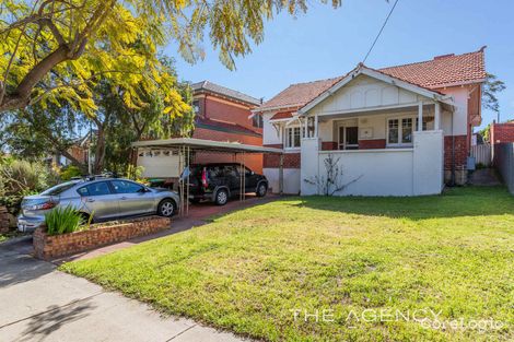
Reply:
[[[285, 151], [284, 192], [418, 196], [466, 182], [472, 128], [481, 122], [483, 55], [383, 69], [360, 63], [264, 103], [253, 113], [262, 116], [264, 145]], [[277, 156], [265, 156], [272, 189], [278, 167]]]

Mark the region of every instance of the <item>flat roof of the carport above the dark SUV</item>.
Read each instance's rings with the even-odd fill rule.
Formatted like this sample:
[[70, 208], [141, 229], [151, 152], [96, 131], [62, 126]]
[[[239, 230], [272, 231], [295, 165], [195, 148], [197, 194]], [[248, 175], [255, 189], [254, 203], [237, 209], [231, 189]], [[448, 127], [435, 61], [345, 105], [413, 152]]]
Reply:
[[282, 149], [265, 148], [256, 145], [247, 145], [238, 142], [224, 142], [203, 140], [195, 138], [174, 138], [161, 140], [145, 140], [132, 143], [132, 148], [147, 149], [179, 149], [180, 146], [189, 146], [191, 150], [217, 151], [230, 153], [278, 153], [282, 154]]

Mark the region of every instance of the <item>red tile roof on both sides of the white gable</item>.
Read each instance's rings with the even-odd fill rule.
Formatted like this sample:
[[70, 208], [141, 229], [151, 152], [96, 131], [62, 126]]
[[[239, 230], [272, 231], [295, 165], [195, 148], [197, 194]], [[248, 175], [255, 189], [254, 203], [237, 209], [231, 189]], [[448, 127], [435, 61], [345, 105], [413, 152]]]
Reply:
[[[429, 61], [383, 68], [376, 71], [429, 90], [478, 83], [482, 82], [487, 75], [483, 48], [475, 52], [445, 55]], [[259, 109], [301, 108], [344, 76], [292, 84], [262, 104]]]

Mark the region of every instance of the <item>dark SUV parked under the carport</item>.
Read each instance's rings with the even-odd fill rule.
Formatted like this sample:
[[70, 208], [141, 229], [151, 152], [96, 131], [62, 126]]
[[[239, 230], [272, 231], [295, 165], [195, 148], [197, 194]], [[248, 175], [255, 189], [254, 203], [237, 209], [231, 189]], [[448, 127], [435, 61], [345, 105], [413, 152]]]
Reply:
[[237, 163], [215, 163], [191, 165], [189, 176], [189, 198], [192, 203], [210, 200], [224, 205], [229, 198], [241, 193], [242, 170], [245, 180], [245, 192], [266, 196], [268, 180]]

